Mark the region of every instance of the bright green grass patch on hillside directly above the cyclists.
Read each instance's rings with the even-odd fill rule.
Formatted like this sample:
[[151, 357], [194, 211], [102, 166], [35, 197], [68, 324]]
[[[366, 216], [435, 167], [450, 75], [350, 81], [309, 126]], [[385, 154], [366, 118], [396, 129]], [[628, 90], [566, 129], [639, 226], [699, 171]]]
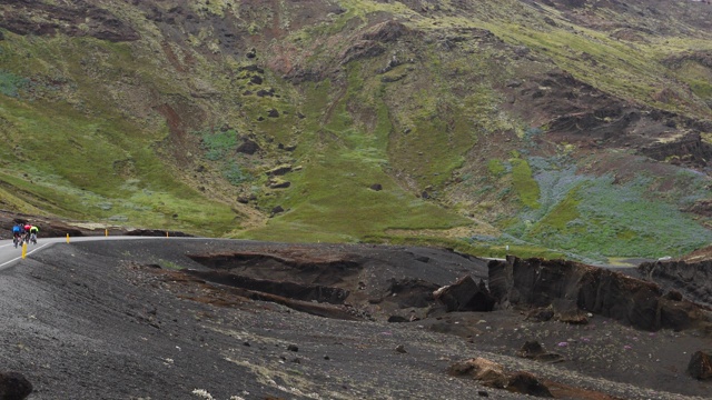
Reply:
[[[0, 181], [48, 212], [81, 220], [221, 234], [235, 213], [178, 181], [150, 136], [120, 118], [88, 117], [66, 103], [0, 98]], [[117, 170], [117, 166], [127, 166]], [[22, 166], [22, 168], [17, 168]], [[128, 171], [128, 172], [127, 172]], [[128, 173], [128, 176], [127, 176]]]

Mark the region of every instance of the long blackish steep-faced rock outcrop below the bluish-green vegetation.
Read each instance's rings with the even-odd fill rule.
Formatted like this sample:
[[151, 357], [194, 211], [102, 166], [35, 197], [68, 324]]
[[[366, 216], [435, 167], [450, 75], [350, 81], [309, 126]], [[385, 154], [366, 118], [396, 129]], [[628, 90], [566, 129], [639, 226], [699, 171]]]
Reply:
[[488, 267], [490, 290], [503, 308], [550, 307], [564, 299], [583, 311], [647, 331], [709, 324], [709, 311], [701, 306], [612, 270], [516, 257], [491, 261]]

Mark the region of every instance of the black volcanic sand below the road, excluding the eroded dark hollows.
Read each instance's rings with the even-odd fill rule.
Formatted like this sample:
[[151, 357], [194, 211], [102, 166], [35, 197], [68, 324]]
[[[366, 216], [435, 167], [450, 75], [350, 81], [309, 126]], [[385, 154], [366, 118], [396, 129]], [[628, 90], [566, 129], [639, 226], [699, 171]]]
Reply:
[[[179, 271], [209, 270], [188, 256], [235, 252], [275, 254], [265, 259], [273, 272], [259, 263], [238, 268], [253, 277], [285, 279], [285, 263], [274, 260], [301, 260], [299, 273], [335, 287], [355, 284], [346, 303], [354, 299], [349, 309], [367, 318], [316, 317]], [[353, 263], [333, 268], [330, 276], [317, 268], [315, 274], [309, 259]], [[464, 399], [478, 391], [523, 397], [447, 374], [451, 364], [474, 357], [599, 392], [570, 398], [712, 392], [712, 383], [684, 372], [692, 352], [712, 348], [694, 331], [644, 332], [597, 316], [586, 326], [532, 322], [516, 311], [424, 318], [425, 308], [414, 307], [413, 298], [405, 309], [395, 300], [400, 292], [394, 296], [393, 288], [403, 282], [442, 286], [466, 273], [477, 280], [486, 277], [485, 264], [405, 247], [206, 239], [55, 244], [0, 272], [2, 368], [32, 382], [29, 399], [207, 398], [201, 390], [226, 400]], [[423, 319], [387, 322], [393, 314]], [[566, 360], [515, 357], [527, 340]], [[404, 351], [396, 351], [399, 346]]]

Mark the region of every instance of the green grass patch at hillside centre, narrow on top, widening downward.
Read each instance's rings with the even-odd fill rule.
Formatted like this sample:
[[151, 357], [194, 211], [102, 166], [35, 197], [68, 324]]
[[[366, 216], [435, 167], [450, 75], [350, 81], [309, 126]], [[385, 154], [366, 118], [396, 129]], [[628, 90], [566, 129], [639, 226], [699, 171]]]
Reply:
[[[245, 236], [269, 240], [355, 241], [387, 229], [447, 229], [468, 220], [406, 192], [387, 173], [392, 131], [383, 100], [352, 72], [347, 90], [305, 84], [307, 126], [297, 149], [300, 171], [265, 199], [287, 210]], [[355, 88], [359, 88], [355, 89]], [[376, 116], [373, 119], [372, 116]], [[380, 184], [382, 190], [372, 186]]]

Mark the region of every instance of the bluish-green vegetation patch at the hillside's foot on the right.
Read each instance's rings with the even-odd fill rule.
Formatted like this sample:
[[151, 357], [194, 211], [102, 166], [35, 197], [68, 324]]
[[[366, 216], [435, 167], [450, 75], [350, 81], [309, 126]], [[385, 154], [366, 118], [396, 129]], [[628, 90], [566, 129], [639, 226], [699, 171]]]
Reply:
[[653, 177], [614, 184], [532, 159], [542, 187], [542, 210], [520, 212], [506, 231], [547, 248], [604, 260], [607, 257], [681, 256], [712, 242], [712, 231], [680, 211], [704, 197], [704, 177], [685, 174], [678, 192], [651, 198]]

